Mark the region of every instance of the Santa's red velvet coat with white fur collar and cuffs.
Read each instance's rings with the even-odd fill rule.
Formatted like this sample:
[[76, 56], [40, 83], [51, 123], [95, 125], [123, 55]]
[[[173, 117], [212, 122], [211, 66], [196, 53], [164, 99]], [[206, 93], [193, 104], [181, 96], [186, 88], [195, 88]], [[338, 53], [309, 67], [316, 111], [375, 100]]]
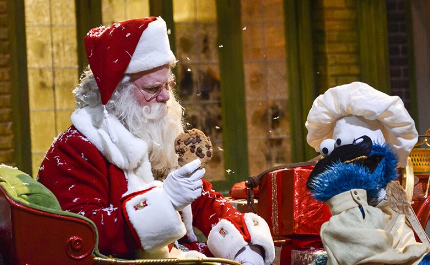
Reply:
[[[73, 126], [47, 152], [39, 181], [58, 198], [63, 210], [92, 220], [104, 254], [147, 253], [166, 249], [186, 234], [179, 214], [154, 181], [148, 146], [109, 115], [119, 137], [112, 143], [101, 107], [77, 109]], [[202, 195], [192, 203], [193, 225], [208, 238], [215, 257], [234, 259], [246, 244], [264, 248], [265, 264], [275, 250], [267, 223], [255, 214], [241, 214], [203, 179]]]

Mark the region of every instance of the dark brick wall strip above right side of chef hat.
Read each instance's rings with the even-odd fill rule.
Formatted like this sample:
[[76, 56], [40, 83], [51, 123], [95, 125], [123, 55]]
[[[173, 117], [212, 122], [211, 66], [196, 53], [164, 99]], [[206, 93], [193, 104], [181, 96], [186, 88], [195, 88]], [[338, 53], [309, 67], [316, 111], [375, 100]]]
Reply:
[[410, 111], [406, 0], [387, 0], [387, 26], [392, 94]]

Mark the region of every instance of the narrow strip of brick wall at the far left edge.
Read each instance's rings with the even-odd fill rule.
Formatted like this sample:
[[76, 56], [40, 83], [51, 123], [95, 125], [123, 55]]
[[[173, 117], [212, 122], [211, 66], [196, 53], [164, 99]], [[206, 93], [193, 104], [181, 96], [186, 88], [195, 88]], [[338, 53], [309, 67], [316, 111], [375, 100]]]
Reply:
[[0, 163], [14, 166], [6, 0], [0, 0]]

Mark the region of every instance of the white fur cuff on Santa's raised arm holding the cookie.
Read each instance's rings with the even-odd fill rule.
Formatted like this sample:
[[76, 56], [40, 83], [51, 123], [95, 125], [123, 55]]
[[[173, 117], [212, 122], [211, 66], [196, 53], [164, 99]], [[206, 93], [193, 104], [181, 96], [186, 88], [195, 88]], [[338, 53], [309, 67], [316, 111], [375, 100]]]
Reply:
[[185, 235], [184, 223], [161, 188], [130, 196], [123, 211], [145, 251], [156, 251]]

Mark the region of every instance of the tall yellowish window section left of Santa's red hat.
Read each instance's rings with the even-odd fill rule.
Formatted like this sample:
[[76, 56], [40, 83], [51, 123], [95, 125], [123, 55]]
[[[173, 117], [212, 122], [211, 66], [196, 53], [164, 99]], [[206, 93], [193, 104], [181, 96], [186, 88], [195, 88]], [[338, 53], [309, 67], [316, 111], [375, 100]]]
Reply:
[[[78, 85], [75, 1], [25, 0], [33, 177], [58, 133], [70, 126]], [[29, 172], [30, 173], [30, 172]]]

